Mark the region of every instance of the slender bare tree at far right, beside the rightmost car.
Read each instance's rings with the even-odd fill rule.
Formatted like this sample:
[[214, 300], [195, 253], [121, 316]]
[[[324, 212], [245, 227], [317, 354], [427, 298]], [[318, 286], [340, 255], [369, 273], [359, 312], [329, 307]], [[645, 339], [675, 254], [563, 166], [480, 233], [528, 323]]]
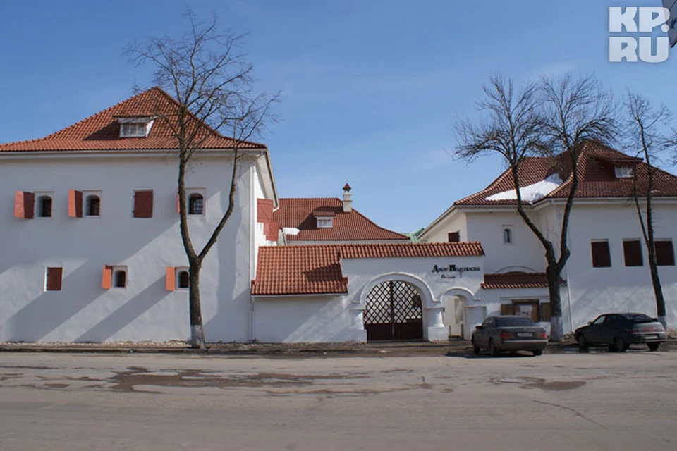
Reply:
[[[637, 209], [642, 237], [649, 254], [649, 272], [656, 299], [656, 312], [659, 321], [666, 327], [665, 298], [661, 287], [656, 259], [656, 242], [654, 240], [654, 179], [658, 169], [654, 160], [671, 147], [671, 140], [666, 134], [671, 113], [666, 106], [654, 108], [644, 97], [628, 92], [625, 101], [628, 115], [625, 127], [628, 147], [635, 149], [645, 165], [635, 165], [633, 171], [633, 198]], [[640, 177], [642, 180], [640, 180]], [[642, 201], [644, 209], [642, 211]]]

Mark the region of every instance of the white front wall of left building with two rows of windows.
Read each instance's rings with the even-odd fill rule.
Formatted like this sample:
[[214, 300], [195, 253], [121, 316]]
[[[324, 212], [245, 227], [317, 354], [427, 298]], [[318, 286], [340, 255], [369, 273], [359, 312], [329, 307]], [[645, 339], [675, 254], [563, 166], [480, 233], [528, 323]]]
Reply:
[[[207, 340], [250, 336], [252, 159], [242, 159], [233, 216], [200, 273]], [[232, 161], [195, 160], [187, 187], [205, 188], [206, 215], [190, 217], [200, 249], [228, 202]], [[188, 292], [165, 290], [166, 266], [186, 266], [171, 156], [4, 159], [0, 164], [0, 340], [188, 338]], [[69, 218], [68, 189], [101, 190], [101, 216]], [[154, 190], [153, 218], [133, 218], [133, 190]], [[53, 217], [13, 216], [16, 190], [53, 191]], [[101, 288], [102, 266], [128, 266], [126, 289]], [[44, 291], [46, 266], [63, 266], [61, 291]]]

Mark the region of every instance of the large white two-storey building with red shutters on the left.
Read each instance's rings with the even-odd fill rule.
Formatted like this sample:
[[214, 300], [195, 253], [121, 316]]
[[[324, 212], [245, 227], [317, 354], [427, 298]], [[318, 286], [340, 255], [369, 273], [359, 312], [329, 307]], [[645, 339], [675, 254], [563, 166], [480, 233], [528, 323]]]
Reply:
[[[178, 161], [169, 126], [155, 120], [173, 102], [154, 88], [47, 137], [0, 144], [0, 340], [190, 336]], [[226, 209], [233, 170], [233, 141], [200, 127], [186, 175], [196, 247]], [[239, 152], [236, 208], [200, 278], [213, 341], [252, 339], [257, 248], [278, 240], [268, 149]]]

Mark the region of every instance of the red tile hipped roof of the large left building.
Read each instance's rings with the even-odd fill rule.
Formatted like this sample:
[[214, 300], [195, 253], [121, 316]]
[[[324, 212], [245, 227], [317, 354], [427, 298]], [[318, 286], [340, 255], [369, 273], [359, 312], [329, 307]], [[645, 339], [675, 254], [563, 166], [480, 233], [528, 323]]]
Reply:
[[[69, 127], [37, 140], [0, 144], [0, 152], [40, 152], [55, 150], [141, 150], [173, 149], [176, 147], [169, 124], [162, 118], [153, 123], [147, 137], [120, 137], [118, 117], [171, 116], [177, 102], [159, 87], [142, 92], [119, 104], [83, 119]], [[202, 149], [229, 149], [233, 140], [221, 136], [205, 124], [200, 124], [198, 139], [205, 137]], [[244, 142], [245, 149], [264, 149], [264, 144]]]

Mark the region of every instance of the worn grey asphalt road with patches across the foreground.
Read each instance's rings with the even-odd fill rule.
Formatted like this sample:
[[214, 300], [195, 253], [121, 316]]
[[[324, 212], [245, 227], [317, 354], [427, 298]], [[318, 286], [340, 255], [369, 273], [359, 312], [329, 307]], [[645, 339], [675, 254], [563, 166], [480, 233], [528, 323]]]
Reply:
[[677, 352], [0, 354], [0, 450], [671, 450]]

